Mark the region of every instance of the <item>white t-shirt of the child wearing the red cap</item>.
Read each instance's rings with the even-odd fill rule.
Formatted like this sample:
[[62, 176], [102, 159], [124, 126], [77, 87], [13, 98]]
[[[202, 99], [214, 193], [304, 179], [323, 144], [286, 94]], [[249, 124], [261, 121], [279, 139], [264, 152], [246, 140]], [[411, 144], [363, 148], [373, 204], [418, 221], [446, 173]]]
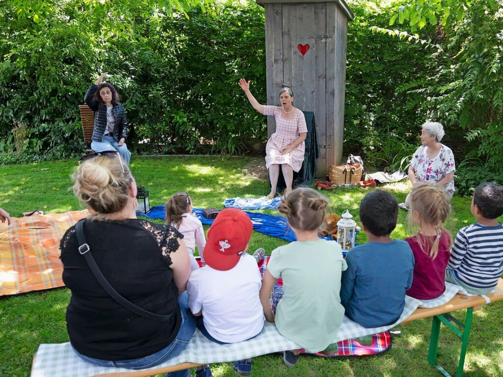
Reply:
[[264, 327], [261, 286], [257, 261], [249, 254], [243, 254], [227, 271], [206, 265], [189, 277], [189, 308], [192, 313], [203, 310], [204, 327], [212, 337], [225, 343], [240, 342]]

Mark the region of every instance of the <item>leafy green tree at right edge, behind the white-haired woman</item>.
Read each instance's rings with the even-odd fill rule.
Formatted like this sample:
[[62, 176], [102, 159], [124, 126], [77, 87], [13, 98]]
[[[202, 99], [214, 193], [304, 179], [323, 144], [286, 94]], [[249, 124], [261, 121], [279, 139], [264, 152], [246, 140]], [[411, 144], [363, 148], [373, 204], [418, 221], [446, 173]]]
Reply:
[[442, 32], [441, 47], [432, 52], [438, 72], [422, 90], [425, 110], [451, 129], [464, 133], [468, 157], [458, 167], [457, 185], [468, 193], [474, 185], [503, 182], [503, 2], [416, 0], [398, 7], [391, 19]]

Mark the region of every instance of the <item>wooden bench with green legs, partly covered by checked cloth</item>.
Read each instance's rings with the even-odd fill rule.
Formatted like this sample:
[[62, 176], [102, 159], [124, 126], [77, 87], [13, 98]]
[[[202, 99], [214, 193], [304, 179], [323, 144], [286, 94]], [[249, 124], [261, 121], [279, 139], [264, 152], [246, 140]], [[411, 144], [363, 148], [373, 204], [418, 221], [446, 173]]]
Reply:
[[[456, 377], [463, 375], [463, 366], [465, 362], [466, 350], [468, 347], [468, 339], [472, 323], [473, 311], [478, 307], [503, 301], [503, 279], [499, 279], [498, 285], [494, 293], [486, 295], [487, 300], [482, 296], [456, 296], [447, 304], [435, 308], [425, 309], [417, 308], [405, 321], [400, 324], [407, 325], [411, 321], [433, 317], [432, 332], [430, 335], [430, 346], [428, 351], [428, 362], [433, 365], [443, 375], [451, 377], [451, 375], [440, 365], [437, 364], [437, 351], [440, 338], [440, 327], [444, 323], [461, 339], [461, 352], [459, 356], [458, 369]], [[451, 312], [466, 309], [465, 322], [457, 320], [451, 315]], [[36, 357], [36, 354], [35, 354]], [[34, 357], [34, 360], [35, 360]], [[151, 370], [131, 370], [130, 372], [110, 372], [99, 374], [100, 377], [148, 377], [156, 374], [163, 374], [177, 370], [193, 368], [203, 364], [185, 362], [169, 367], [151, 369]], [[113, 370], [113, 369], [111, 369]]]

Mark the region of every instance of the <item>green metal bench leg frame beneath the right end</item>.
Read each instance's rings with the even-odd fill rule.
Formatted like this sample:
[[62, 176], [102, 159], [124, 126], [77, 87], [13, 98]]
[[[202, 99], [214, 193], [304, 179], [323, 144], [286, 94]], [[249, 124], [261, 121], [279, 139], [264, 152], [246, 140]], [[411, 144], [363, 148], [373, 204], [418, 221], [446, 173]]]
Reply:
[[[430, 348], [428, 349], [428, 362], [446, 377], [452, 376], [451, 374], [449, 374], [449, 372], [447, 372], [447, 370], [442, 367], [442, 365], [437, 364], [440, 325], [441, 323], [444, 323], [449, 329], [451, 329], [452, 332], [454, 332], [454, 334], [456, 334], [461, 339], [461, 353], [459, 354], [459, 363], [458, 370], [456, 371], [456, 377], [462, 377], [466, 350], [468, 348], [468, 338], [470, 337], [472, 317], [473, 308], [468, 308], [466, 310], [466, 318], [464, 324], [452, 317], [450, 313], [447, 313], [445, 315], [439, 314], [433, 317], [432, 333], [430, 335]], [[456, 328], [455, 325], [457, 325], [460, 330]]]

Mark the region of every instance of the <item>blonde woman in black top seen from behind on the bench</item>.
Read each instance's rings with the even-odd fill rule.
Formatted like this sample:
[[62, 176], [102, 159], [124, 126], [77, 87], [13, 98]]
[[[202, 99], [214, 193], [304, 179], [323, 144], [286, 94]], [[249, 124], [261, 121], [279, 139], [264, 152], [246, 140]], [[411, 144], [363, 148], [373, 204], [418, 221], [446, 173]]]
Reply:
[[136, 218], [136, 182], [118, 153], [82, 161], [72, 179], [75, 196], [93, 212], [83, 232], [110, 285], [148, 312], [171, 315], [153, 321], [109, 296], [79, 253], [73, 226], [60, 244], [63, 281], [71, 291], [66, 322], [73, 349], [94, 364], [130, 369], [176, 356], [196, 327], [187, 294], [181, 294], [191, 270], [182, 234]]

